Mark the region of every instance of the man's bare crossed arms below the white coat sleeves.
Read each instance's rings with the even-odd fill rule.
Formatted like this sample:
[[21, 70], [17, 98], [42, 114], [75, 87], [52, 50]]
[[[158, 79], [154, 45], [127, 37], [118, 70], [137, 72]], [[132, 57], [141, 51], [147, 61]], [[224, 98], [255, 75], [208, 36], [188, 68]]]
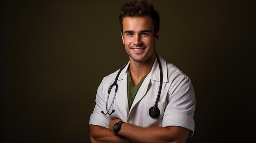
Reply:
[[92, 143], [186, 143], [189, 130], [177, 126], [141, 128], [129, 123], [123, 123], [118, 135], [114, 134], [113, 126], [121, 121], [114, 119], [110, 129], [90, 125]]

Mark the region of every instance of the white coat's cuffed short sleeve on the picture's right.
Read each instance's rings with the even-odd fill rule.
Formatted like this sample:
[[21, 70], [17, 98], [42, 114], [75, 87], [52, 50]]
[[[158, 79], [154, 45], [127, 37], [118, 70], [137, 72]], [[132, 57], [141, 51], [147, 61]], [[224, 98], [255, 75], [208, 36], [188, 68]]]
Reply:
[[186, 75], [175, 79], [168, 91], [168, 104], [162, 118], [163, 127], [180, 126], [194, 133], [195, 93], [191, 80]]

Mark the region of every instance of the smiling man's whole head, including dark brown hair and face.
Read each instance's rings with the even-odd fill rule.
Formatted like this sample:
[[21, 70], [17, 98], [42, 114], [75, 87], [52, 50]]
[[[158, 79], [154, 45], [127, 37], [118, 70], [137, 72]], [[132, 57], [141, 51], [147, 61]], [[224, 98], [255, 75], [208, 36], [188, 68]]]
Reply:
[[137, 0], [124, 4], [120, 12], [121, 35], [131, 62], [153, 63], [159, 38], [159, 15], [152, 4]]

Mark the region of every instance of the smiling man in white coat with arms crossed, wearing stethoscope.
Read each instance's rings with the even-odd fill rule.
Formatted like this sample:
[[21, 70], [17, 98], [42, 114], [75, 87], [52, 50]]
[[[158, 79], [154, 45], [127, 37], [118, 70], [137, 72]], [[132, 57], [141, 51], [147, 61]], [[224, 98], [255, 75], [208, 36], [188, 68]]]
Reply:
[[130, 61], [97, 90], [91, 142], [185, 143], [194, 132], [194, 90], [189, 77], [157, 56], [158, 13], [150, 2], [136, 0], [121, 7], [119, 19]]

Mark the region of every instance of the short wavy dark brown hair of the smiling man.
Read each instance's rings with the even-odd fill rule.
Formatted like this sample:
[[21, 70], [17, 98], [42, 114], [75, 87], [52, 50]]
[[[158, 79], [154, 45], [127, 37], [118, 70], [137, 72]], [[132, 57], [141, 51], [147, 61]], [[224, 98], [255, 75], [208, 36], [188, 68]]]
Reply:
[[126, 16], [146, 16], [149, 15], [153, 20], [154, 35], [159, 31], [160, 18], [158, 12], [154, 9], [153, 4], [148, 0], [135, 0], [134, 2], [127, 2], [121, 7], [119, 21], [121, 25], [121, 32], [123, 33], [123, 19]]

